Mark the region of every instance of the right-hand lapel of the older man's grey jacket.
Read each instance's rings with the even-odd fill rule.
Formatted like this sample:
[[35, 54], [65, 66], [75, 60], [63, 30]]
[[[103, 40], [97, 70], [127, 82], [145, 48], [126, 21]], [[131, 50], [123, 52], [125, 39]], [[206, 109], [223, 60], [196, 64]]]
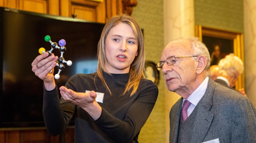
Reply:
[[198, 103], [195, 125], [190, 143], [201, 143], [206, 136], [214, 115], [209, 111], [212, 107], [212, 95], [215, 88], [215, 82], [209, 79], [205, 94]]

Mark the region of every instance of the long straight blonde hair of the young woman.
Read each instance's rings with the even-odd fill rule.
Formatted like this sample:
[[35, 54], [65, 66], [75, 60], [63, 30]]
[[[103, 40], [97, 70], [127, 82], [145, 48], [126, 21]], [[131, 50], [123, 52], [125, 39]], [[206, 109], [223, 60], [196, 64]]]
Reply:
[[[110, 18], [110, 20], [104, 26], [103, 31], [101, 33], [101, 38], [98, 43], [98, 51], [97, 51], [98, 68], [97, 68], [96, 77], [99, 77], [101, 79], [104, 86], [108, 89], [110, 94], [112, 94], [103, 76], [103, 72], [107, 72], [107, 69], [105, 68], [105, 63], [107, 62], [106, 52], [105, 52], [105, 41], [109, 31], [120, 22], [126, 23], [131, 26], [132, 31], [135, 35], [135, 38], [137, 39], [137, 42], [138, 42], [138, 55], [135, 57], [132, 64], [130, 65], [129, 80], [126, 85], [126, 89], [122, 94], [124, 95], [126, 92], [129, 92], [130, 90], [132, 90], [130, 94], [130, 96], [132, 96], [137, 91], [141, 78], [145, 78], [145, 75], [144, 75], [145, 49], [144, 49], [143, 34], [141, 32], [140, 26], [131, 16], [127, 14], [117, 15], [115, 17]], [[110, 74], [109, 72], [107, 73]], [[96, 81], [95, 78], [94, 78], [94, 82]]]

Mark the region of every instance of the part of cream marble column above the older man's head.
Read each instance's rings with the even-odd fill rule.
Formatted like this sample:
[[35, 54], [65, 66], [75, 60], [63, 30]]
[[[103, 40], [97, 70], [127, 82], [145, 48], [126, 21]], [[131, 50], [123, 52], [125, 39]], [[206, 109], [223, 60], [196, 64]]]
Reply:
[[164, 44], [177, 37], [194, 36], [194, 0], [164, 0]]

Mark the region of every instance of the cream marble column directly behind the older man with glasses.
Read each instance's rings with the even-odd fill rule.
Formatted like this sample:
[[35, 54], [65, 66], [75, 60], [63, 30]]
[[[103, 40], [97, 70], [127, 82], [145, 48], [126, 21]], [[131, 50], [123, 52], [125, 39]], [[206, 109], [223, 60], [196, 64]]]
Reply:
[[[195, 35], [194, 0], [163, 0], [164, 45], [177, 37]], [[169, 142], [169, 112], [174, 103], [181, 98], [165, 86], [166, 142]]]

